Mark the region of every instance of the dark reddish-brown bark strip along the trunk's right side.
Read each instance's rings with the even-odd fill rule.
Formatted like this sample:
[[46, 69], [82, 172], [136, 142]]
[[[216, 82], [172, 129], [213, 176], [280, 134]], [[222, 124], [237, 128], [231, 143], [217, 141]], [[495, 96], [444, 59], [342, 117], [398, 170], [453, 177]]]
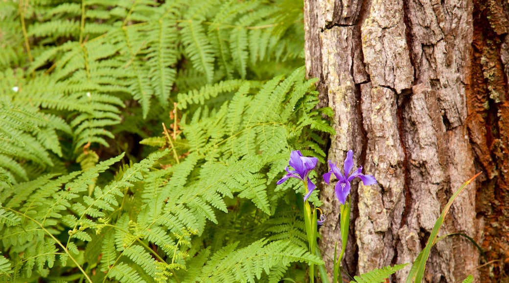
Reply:
[[[477, 215], [484, 217], [481, 244], [488, 264], [482, 282], [509, 278], [509, 101], [500, 46], [509, 30], [500, 2], [474, 0], [473, 52], [467, 91], [468, 131], [477, 165], [486, 173], [477, 189]], [[483, 264], [485, 262], [482, 262]]]

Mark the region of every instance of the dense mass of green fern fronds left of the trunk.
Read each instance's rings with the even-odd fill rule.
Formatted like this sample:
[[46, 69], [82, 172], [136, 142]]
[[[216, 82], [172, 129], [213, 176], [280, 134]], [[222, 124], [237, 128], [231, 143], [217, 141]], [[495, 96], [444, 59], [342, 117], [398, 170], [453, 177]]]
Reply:
[[278, 282], [322, 264], [294, 183], [275, 185], [333, 132], [300, 67], [301, 5], [0, 3], [0, 281]]

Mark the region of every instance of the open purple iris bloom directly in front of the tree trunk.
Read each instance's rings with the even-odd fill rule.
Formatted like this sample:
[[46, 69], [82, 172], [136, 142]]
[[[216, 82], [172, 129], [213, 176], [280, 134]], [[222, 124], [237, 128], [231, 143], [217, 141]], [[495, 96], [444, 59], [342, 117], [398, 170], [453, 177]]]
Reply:
[[336, 193], [337, 199], [341, 202], [341, 204], [345, 204], [347, 200], [348, 194], [350, 194], [350, 182], [356, 177], [362, 181], [364, 185], [373, 185], [377, 183], [377, 180], [372, 175], [364, 175], [362, 174], [362, 166], [355, 169], [352, 174], [347, 174], [353, 168], [353, 151], [349, 150], [347, 152], [347, 158], [345, 159], [345, 175], [343, 175], [339, 168], [337, 168], [336, 164], [332, 163], [329, 160], [330, 171], [323, 174], [323, 180], [325, 183], [329, 184], [330, 174], [334, 173], [337, 179], [336, 187], [334, 188], [334, 192]]

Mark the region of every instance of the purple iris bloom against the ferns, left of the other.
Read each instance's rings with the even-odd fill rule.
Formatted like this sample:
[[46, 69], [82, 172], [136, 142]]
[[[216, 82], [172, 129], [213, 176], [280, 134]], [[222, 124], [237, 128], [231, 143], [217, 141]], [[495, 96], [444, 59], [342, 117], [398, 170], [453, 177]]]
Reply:
[[[299, 179], [302, 182], [307, 182], [307, 194], [304, 196], [304, 201], [311, 195], [316, 185], [311, 182], [308, 175], [315, 169], [318, 158], [302, 156], [300, 150], [294, 150], [290, 154], [290, 161], [288, 162], [295, 170], [290, 170], [288, 166], [285, 168], [288, 174], [286, 174], [281, 180], [277, 181], [277, 185], [280, 185], [287, 181], [288, 178]], [[307, 180], [306, 180], [307, 179]]]

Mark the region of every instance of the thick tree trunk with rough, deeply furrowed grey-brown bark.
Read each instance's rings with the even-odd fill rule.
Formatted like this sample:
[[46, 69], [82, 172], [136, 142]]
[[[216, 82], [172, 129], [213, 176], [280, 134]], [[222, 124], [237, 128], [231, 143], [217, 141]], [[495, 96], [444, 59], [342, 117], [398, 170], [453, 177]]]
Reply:
[[[362, 274], [412, 263], [449, 197], [454, 202], [426, 280], [504, 278], [509, 254], [509, 5], [501, 0], [306, 0], [308, 77], [334, 110], [328, 159], [349, 149], [378, 185], [352, 186], [343, 266]], [[340, 242], [339, 203], [321, 184], [324, 254]], [[504, 262], [505, 260], [505, 262]], [[332, 270], [332, 261], [327, 262]], [[408, 265], [393, 280], [402, 282]], [[348, 279], [348, 277], [346, 277]]]

